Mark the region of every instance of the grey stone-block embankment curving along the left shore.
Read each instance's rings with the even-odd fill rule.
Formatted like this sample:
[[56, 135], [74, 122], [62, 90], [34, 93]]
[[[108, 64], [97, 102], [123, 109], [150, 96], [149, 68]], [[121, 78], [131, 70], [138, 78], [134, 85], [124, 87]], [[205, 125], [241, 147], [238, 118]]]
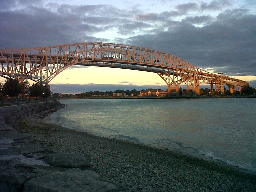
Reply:
[[55, 151], [20, 132], [21, 117], [34, 122], [61, 107], [55, 101], [0, 108], [0, 192], [122, 191], [100, 180], [87, 157]]

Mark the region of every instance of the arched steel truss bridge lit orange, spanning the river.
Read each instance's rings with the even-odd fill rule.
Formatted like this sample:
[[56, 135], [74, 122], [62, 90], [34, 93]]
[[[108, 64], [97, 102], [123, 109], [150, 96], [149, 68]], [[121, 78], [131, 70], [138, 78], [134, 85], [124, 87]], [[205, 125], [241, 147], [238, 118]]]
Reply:
[[0, 76], [31, 79], [48, 85], [61, 71], [73, 65], [114, 67], [157, 73], [178, 93], [185, 83], [195, 93], [201, 83], [215, 84], [223, 93], [228, 85], [231, 93], [248, 82], [224, 75], [209, 73], [183, 59], [161, 51], [114, 43], [75, 43], [28, 49], [0, 50]]

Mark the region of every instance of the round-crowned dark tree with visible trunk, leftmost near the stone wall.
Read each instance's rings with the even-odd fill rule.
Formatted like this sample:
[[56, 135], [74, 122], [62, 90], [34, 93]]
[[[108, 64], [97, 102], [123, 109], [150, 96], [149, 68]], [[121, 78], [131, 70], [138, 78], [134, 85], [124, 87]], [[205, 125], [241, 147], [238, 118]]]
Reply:
[[17, 79], [7, 79], [3, 86], [3, 94], [12, 97], [12, 103], [14, 103], [14, 96], [22, 93], [22, 85]]

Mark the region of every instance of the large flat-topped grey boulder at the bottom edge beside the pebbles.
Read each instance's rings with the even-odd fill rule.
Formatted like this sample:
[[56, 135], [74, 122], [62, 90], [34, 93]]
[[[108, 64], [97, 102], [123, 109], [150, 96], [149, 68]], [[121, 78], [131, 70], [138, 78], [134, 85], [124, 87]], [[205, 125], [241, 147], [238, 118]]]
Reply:
[[24, 186], [23, 192], [110, 192], [118, 188], [98, 180], [94, 171], [79, 168], [64, 172], [54, 172], [38, 178], [33, 178]]

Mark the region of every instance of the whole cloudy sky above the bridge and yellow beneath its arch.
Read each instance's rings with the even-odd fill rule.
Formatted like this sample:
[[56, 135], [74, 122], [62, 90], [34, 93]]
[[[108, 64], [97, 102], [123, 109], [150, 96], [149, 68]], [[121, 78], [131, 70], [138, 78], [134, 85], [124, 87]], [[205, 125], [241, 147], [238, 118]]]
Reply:
[[[160, 50], [256, 87], [256, 0], [1, 0], [0, 49], [109, 42]], [[167, 88], [156, 74], [72, 67], [52, 92]]]

